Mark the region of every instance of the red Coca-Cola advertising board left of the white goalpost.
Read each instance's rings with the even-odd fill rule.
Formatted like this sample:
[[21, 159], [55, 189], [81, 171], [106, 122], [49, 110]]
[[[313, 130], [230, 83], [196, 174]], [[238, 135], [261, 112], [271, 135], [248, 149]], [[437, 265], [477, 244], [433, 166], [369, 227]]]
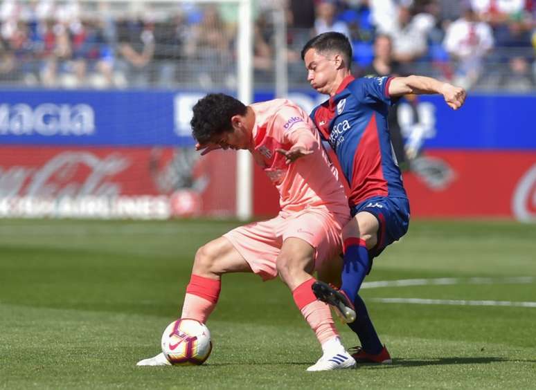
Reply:
[[0, 147], [0, 217], [233, 216], [234, 167], [190, 147]]

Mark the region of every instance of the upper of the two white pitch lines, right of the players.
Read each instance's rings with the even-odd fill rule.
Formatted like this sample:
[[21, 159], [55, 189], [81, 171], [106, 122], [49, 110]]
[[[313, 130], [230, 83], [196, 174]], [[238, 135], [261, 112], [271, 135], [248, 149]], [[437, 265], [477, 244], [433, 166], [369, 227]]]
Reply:
[[404, 286], [445, 286], [452, 284], [530, 284], [535, 277], [442, 277], [436, 279], [398, 279], [365, 281], [361, 288], [404, 287]]

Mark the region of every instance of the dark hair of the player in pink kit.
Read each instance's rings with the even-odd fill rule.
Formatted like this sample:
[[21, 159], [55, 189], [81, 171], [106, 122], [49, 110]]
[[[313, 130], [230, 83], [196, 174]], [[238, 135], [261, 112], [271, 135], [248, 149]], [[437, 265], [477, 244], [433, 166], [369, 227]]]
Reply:
[[240, 100], [224, 93], [209, 93], [193, 106], [192, 136], [200, 144], [206, 144], [214, 136], [231, 131], [231, 118], [246, 112], [247, 107]]

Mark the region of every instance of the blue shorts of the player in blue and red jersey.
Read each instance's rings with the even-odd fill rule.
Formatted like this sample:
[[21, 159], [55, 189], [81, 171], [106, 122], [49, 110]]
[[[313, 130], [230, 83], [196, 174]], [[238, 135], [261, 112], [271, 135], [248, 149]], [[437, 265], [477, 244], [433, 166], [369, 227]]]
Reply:
[[377, 244], [368, 251], [370, 267], [372, 259], [379, 256], [387, 245], [398, 241], [409, 227], [409, 201], [394, 196], [373, 196], [352, 207], [352, 217], [358, 212], [370, 212], [379, 223]]

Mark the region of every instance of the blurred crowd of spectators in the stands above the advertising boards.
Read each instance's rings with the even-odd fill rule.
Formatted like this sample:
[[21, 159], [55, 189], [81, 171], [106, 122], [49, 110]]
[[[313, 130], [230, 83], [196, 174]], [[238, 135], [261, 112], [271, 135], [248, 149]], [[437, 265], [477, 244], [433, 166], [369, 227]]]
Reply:
[[[236, 83], [238, 8], [232, 3], [5, 0], [0, 84], [123, 88]], [[354, 71], [433, 75], [468, 89], [535, 90], [535, 0], [253, 0], [254, 77], [273, 83], [284, 50], [289, 84], [306, 84], [300, 57], [316, 34], [346, 34]], [[284, 10], [287, 48], [276, 47]]]

